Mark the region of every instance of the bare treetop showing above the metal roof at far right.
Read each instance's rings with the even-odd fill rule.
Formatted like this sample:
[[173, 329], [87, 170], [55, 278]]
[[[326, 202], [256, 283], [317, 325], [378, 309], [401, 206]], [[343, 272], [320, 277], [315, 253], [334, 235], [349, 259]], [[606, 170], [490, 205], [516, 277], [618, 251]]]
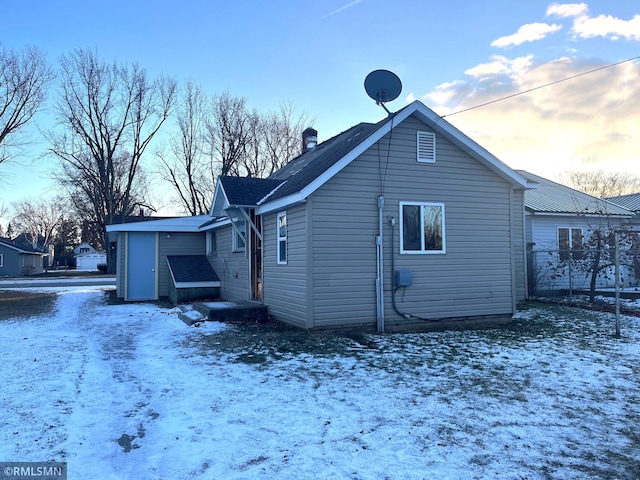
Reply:
[[560, 181], [597, 198], [617, 197], [640, 191], [640, 176], [629, 172], [569, 170], [561, 175]]

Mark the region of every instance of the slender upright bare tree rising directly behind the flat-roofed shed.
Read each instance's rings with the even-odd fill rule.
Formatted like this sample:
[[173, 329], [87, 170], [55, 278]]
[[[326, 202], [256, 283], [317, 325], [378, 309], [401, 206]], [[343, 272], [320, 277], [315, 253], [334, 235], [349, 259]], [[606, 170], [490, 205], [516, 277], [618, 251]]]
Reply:
[[209, 99], [200, 86], [187, 81], [177, 108], [177, 134], [169, 139], [168, 151], [156, 151], [160, 176], [189, 215], [206, 213], [213, 198], [211, 157], [204, 144], [208, 109]]

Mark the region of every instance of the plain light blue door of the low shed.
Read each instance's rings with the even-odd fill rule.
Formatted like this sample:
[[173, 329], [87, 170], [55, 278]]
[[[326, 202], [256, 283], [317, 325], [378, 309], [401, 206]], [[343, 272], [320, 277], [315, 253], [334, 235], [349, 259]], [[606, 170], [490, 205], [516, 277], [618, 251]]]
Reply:
[[156, 234], [127, 234], [127, 300], [156, 299]]

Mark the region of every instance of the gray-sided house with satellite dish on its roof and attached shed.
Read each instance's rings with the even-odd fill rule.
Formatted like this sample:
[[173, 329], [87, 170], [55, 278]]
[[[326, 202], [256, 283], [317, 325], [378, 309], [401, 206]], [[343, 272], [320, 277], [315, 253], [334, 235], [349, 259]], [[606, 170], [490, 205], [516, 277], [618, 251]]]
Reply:
[[420, 102], [317, 146], [304, 135], [269, 178], [219, 178], [208, 216], [107, 227], [118, 296], [168, 296], [167, 257], [192, 255], [223, 299], [305, 329], [512, 317], [526, 295], [524, 177]]

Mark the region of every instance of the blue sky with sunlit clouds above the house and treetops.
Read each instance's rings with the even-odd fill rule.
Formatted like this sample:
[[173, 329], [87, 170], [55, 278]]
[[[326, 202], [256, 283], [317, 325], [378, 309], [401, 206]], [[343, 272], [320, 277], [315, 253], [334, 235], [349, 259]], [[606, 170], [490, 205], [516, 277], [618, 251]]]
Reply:
[[[363, 81], [403, 82], [398, 110], [420, 100], [441, 115], [640, 55], [640, 4], [630, 1], [32, 0], [3, 6], [0, 42], [37, 45], [50, 61], [74, 48], [137, 62], [152, 75], [228, 89], [261, 111], [290, 101], [319, 140], [384, 111]], [[53, 92], [52, 92], [53, 93]], [[640, 175], [640, 61], [627, 62], [447, 120], [514, 168]], [[49, 126], [46, 111], [40, 126]], [[0, 203], [52, 194], [51, 160], [4, 164]], [[149, 155], [148, 160], [152, 160]]]

